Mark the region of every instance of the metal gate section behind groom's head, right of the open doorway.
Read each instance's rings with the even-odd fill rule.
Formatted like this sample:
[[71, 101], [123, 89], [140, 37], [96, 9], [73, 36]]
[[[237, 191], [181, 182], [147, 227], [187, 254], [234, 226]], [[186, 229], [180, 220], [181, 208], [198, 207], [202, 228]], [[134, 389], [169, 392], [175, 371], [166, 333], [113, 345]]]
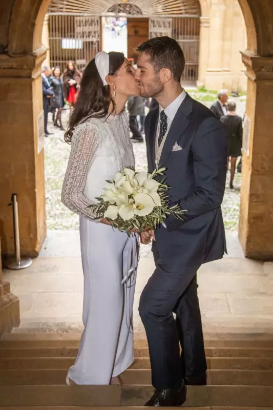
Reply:
[[150, 17], [149, 35], [174, 38], [185, 56], [185, 70], [182, 75], [184, 85], [196, 85], [199, 66], [200, 17], [196, 15], [173, 16], [172, 18]]

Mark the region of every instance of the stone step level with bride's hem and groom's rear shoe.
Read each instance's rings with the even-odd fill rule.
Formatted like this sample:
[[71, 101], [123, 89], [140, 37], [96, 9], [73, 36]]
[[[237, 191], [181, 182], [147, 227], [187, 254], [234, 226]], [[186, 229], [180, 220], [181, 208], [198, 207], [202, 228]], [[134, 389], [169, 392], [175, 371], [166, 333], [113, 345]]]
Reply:
[[[65, 384], [67, 369], [0, 370], [0, 385]], [[124, 384], [151, 385], [151, 371], [129, 369], [121, 376]], [[208, 370], [208, 385], [273, 386], [273, 371]]]

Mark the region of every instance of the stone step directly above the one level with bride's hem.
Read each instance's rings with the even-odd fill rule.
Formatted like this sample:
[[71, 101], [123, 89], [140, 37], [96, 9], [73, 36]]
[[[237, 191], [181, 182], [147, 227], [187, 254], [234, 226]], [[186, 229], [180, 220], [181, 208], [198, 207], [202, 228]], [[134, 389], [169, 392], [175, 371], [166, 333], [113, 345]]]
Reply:
[[[1, 358], [0, 369], [68, 369], [74, 357], [18, 357]], [[132, 369], [151, 368], [150, 359], [135, 358]], [[207, 368], [212, 370], [273, 370], [273, 359], [265, 358], [207, 358]]]

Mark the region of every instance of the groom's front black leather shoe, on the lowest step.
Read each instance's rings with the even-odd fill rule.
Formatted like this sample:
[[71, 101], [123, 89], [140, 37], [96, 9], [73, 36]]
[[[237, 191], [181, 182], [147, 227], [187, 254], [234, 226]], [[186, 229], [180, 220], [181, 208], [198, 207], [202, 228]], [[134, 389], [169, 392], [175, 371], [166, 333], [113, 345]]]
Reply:
[[164, 390], [155, 390], [155, 394], [146, 402], [145, 406], [154, 407], [178, 407], [186, 401], [186, 386], [183, 382], [180, 390], [165, 388]]

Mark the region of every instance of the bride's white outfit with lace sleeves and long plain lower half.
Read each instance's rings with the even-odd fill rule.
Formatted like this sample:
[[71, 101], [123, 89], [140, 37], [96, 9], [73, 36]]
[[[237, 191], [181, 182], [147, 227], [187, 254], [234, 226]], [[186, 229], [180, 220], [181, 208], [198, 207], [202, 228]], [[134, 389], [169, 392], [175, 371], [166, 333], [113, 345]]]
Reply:
[[[76, 384], [109, 384], [111, 377], [124, 372], [134, 359], [132, 312], [138, 237], [133, 234], [129, 238], [109, 225], [96, 223], [88, 208], [103, 193], [106, 180], [134, 165], [127, 114], [91, 118], [75, 128], [61, 200], [80, 215], [85, 330], [68, 373]], [[129, 271], [133, 271], [131, 276]]]

